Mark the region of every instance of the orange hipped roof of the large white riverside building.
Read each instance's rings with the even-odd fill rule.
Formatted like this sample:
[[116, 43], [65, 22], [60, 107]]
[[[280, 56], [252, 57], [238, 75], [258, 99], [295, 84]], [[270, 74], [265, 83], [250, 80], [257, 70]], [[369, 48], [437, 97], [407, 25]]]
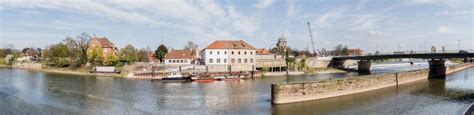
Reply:
[[252, 49], [255, 48], [243, 40], [216, 40], [206, 49]]

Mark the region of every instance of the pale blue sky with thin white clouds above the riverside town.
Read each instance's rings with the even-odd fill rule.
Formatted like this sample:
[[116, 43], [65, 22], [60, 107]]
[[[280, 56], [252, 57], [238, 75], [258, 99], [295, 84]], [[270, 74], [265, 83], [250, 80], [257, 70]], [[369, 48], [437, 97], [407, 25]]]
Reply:
[[180, 49], [214, 40], [269, 48], [336, 45], [367, 52], [474, 49], [472, 0], [0, 0], [0, 47], [46, 47], [82, 32], [132, 44]]

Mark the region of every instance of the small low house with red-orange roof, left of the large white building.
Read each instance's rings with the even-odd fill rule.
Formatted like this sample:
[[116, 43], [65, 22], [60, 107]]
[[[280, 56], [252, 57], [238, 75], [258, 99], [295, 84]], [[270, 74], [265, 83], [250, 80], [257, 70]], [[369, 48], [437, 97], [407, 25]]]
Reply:
[[175, 50], [172, 49], [165, 55], [165, 65], [191, 65], [194, 57], [192, 50]]

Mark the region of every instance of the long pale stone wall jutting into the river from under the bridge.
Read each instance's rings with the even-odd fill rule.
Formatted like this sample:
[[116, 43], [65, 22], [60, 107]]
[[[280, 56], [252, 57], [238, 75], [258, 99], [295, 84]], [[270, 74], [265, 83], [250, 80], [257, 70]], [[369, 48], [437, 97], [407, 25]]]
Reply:
[[[465, 63], [448, 66], [446, 74], [473, 67]], [[429, 69], [401, 73], [366, 75], [333, 80], [272, 84], [272, 103], [285, 104], [331, 98], [427, 79]]]

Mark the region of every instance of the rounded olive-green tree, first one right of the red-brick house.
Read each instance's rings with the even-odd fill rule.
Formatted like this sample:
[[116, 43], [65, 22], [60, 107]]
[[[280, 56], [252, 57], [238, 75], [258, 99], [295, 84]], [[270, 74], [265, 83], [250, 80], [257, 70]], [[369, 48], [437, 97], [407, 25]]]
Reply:
[[120, 49], [119, 57], [120, 60], [130, 64], [138, 61], [138, 51], [131, 44], [128, 44], [124, 48]]

